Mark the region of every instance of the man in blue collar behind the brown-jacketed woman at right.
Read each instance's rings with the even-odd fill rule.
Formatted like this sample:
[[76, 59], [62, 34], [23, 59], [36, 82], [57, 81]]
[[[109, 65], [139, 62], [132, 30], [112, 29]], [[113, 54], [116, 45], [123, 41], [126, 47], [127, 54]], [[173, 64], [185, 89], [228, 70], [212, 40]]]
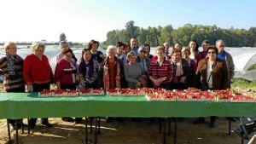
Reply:
[[[235, 75], [235, 65], [234, 65], [234, 61], [232, 56], [230, 55], [230, 53], [226, 52], [224, 50], [224, 40], [219, 39], [218, 41], [216, 41], [216, 47], [218, 48], [218, 59], [224, 60], [227, 63], [227, 68], [230, 74], [230, 81], [231, 79], [233, 79], [234, 75]], [[232, 118], [232, 117], [228, 117], [228, 119], [230, 119], [233, 122], [236, 122], [236, 118]]]

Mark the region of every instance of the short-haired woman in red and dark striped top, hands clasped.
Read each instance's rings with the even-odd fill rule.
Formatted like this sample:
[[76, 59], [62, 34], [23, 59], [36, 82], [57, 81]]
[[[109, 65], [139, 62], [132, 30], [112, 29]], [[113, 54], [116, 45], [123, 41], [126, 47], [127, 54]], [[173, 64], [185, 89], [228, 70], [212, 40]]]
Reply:
[[172, 64], [164, 59], [165, 48], [158, 46], [155, 49], [157, 59], [151, 61], [148, 67], [148, 78], [154, 88], [170, 89], [170, 83], [173, 78]]

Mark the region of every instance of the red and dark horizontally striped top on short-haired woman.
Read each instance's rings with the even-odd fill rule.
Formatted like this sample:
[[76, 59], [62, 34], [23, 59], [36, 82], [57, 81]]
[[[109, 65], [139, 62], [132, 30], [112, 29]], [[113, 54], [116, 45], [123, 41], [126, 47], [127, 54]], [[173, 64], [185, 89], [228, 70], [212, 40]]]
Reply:
[[159, 66], [157, 60], [151, 61], [148, 67], [148, 78], [150, 76], [154, 79], [166, 77], [162, 84], [170, 83], [173, 78], [173, 66], [168, 60], [164, 60], [162, 66]]

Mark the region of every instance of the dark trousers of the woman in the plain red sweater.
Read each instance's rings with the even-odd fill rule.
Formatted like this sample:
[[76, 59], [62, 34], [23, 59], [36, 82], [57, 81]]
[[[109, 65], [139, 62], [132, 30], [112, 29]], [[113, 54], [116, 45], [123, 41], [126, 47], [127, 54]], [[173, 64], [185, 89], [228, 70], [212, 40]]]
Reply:
[[[41, 92], [44, 89], [49, 90], [49, 83], [46, 84], [32, 84], [33, 85], [33, 92]], [[38, 118], [30, 118], [28, 124], [34, 126], [37, 123]], [[48, 118], [42, 118], [42, 124], [48, 124]]]

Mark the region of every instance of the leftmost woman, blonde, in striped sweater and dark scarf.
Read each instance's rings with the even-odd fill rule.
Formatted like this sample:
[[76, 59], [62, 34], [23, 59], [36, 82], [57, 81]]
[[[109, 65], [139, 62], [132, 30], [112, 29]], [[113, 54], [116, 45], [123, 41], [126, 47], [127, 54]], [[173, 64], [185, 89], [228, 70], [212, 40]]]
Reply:
[[[17, 55], [15, 42], [6, 42], [3, 45], [6, 56], [0, 59], [0, 74], [3, 75], [3, 89], [5, 92], [25, 92], [25, 83], [22, 77], [23, 59]], [[21, 126], [22, 119], [15, 125], [14, 119], [7, 119], [11, 130]]]

